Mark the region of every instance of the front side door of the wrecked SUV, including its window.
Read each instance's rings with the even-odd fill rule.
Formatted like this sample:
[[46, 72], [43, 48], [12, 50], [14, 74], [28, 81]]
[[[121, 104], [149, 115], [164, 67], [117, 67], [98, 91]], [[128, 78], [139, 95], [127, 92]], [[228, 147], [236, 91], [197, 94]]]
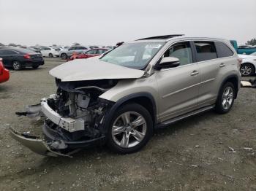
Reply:
[[180, 60], [176, 68], [156, 71], [159, 88], [159, 120], [164, 122], [197, 109], [200, 71], [193, 63], [190, 42], [173, 44], [162, 57]]

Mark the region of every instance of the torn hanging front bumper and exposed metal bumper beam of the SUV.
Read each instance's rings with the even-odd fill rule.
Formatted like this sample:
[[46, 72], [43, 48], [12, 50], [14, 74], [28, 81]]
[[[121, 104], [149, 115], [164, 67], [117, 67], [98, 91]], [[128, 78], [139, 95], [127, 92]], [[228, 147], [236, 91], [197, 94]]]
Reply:
[[[39, 136], [31, 136], [29, 133], [18, 133], [10, 128], [10, 135], [13, 139], [39, 155], [70, 157], [82, 148], [105, 143], [105, 136], [100, 133], [94, 137], [74, 139], [77, 133], [84, 132], [84, 128], [78, 128], [84, 127], [83, 123], [80, 120], [61, 117], [48, 106], [45, 98], [42, 99], [41, 104], [27, 106], [26, 112], [17, 112], [16, 114], [36, 119], [40, 116], [46, 117], [42, 126], [43, 139]], [[73, 132], [74, 128], [78, 128], [78, 130]]]

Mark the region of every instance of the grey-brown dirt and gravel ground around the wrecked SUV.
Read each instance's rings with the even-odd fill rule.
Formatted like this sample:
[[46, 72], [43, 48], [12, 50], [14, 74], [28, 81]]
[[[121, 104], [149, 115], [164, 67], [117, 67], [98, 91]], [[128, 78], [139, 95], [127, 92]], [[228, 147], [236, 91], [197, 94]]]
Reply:
[[0, 190], [256, 190], [256, 89], [241, 89], [228, 114], [208, 112], [158, 130], [132, 155], [102, 147], [43, 157], [21, 146], [8, 128], [39, 130], [41, 123], [15, 112], [55, 93], [48, 71], [60, 63], [11, 71], [0, 85]]

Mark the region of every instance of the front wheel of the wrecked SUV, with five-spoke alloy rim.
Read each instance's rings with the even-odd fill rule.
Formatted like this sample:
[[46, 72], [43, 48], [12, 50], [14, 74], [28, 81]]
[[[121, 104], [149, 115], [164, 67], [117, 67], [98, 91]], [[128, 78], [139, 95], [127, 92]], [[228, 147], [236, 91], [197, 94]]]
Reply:
[[137, 152], [147, 144], [152, 134], [153, 121], [148, 110], [139, 104], [126, 104], [118, 108], [110, 120], [108, 147], [120, 154]]

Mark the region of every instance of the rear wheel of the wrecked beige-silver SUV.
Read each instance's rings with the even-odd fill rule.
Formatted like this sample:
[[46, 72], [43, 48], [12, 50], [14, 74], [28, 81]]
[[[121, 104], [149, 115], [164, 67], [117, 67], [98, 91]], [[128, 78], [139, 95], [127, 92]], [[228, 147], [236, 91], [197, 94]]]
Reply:
[[219, 91], [215, 111], [219, 114], [225, 114], [230, 111], [234, 104], [236, 89], [231, 82], [225, 83]]

